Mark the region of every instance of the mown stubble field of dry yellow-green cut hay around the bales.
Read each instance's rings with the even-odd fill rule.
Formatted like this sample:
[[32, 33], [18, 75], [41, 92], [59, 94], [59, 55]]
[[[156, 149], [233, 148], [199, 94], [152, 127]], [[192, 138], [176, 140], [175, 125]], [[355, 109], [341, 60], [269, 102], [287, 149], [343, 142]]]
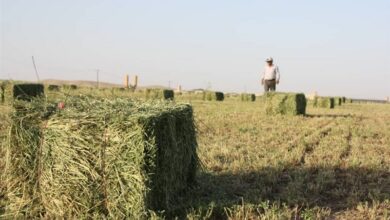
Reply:
[[[151, 218], [390, 218], [390, 105], [268, 116], [261, 101], [191, 104], [203, 169], [171, 213]], [[0, 105], [2, 157], [8, 111]]]

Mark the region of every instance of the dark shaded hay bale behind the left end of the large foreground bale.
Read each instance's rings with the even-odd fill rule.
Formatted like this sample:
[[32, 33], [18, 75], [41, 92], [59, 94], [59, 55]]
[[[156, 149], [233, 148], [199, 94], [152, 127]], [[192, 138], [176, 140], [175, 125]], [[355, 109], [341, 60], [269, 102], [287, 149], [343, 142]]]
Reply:
[[14, 99], [31, 101], [33, 97], [42, 96], [44, 94], [43, 84], [24, 83], [15, 84], [13, 86]]

